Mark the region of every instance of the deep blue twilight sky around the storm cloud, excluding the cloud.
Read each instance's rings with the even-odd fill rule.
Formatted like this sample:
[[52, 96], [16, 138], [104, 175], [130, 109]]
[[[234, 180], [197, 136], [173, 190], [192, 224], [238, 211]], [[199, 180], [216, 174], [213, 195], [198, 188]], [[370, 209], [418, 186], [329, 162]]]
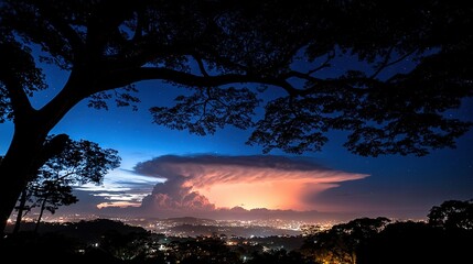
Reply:
[[[51, 89], [32, 98], [35, 107], [41, 107], [51, 99], [67, 78], [65, 73], [53, 67], [46, 67], [45, 74]], [[142, 175], [136, 172], [137, 164], [152, 158], [165, 155], [206, 154], [217, 157], [262, 155], [261, 147], [245, 144], [250, 131], [226, 128], [214, 135], [197, 136], [186, 131], [172, 131], [153, 124], [148, 109], [157, 105], [171, 103], [184, 89], [160, 81], [143, 81], [137, 84], [137, 87], [141, 99], [138, 111], [116, 108], [112, 105], [108, 111], [95, 110], [87, 108], [87, 102], [83, 101], [53, 130], [52, 133], [67, 133], [74, 140], [85, 139], [97, 142], [103, 147], [115, 148], [122, 158], [121, 167], [106, 176], [104, 186], [80, 188], [79, 204], [64, 209], [65, 211], [76, 210], [87, 213], [89, 210], [97, 213], [99, 211], [96, 210], [97, 205], [114, 205], [121, 201], [140, 205], [143, 197], [153, 193], [157, 184], [165, 184], [164, 175]], [[266, 97], [272, 97], [278, 92], [280, 91], [270, 88], [266, 91]], [[472, 113], [473, 100], [469, 99], [461, 109], [450, 114], [473, 121]], [[11, 139], [12, 125], [11, 123], [1, 125], [0, 153], [4, 154]], [[432, 206], [444, 200], [473, 198], [473, 131], [459, 139], [455, 150], [437, 150], [424, 157], [398, 155], [362, 157], [342, 147], [344, 140], [342, 132], [330, 133], [330, 140], [322, 152], [290, 157], [332, 170], [365, 176], [358, 178], [354, 176], [352, 180], [335, 180], [330, 188], [314, 190], [304, 198], [313, 201], [313, 210], [353, 212], [356, 216], [373, 213], [389, 217], [426, 217]], [[286, 155], [280, 151], [270, 154]], [[198, 188], [192, 189], [191, 193], [196, 190]], [[202, 195], [205, 190], [200, 191]], [[219, 206], [218, 199], [209, 199], [209, 202], [216, 208]], [[127, 213], [126, 209], [122, 212]]]

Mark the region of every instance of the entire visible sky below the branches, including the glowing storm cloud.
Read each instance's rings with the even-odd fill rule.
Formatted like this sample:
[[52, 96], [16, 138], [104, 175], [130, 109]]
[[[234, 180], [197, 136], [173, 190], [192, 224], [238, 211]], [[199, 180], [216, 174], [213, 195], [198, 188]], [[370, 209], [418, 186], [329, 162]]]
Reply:
[[[67, 78], [57, 68], [44, 70], [50, 89], [31, 98], [36, 108]], [[56, 215], [424, 219], [430, 208], [445, 200], [473, 198], [473, 131], [458, 140], [456, 148], [434, 150], [423, 157], [351, 154], [342, 146], [343, 132], [330, 132], [321, 152], [262, 154], [261, 147], [245, 144], [249, 130], [229, 127], [198, 136], [152, 123], [148, 109], [172, 103], [185, 89], [160, 81], [138, 82], [137, 88], [138, 111], [112, 103], [108, 111], [95, 110], [83, 101], [52, 131], [117, 150], [122, 158], [101, 185], [77, 186], [79, 201]], [[270, 87], [262, 97], [280, 92]], [[473, 121], [473, 100], [449, 114]], [[1, 125], [4, 154], [12, 124]]]

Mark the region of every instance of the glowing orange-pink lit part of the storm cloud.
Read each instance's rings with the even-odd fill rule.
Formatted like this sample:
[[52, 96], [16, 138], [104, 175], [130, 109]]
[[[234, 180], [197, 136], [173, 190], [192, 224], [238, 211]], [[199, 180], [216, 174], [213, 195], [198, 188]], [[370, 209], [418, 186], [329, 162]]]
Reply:
[[336, 183], [367, 176], [343, 172], [280, 170], [260, 167], [214, 168], [208, 165], [203, 170], [205, 173], [201, 177], [192, 177], [187, 182], [194, 186], [193, 190], [207, 197], [216, 207], [239, 206], [245, 209], [313, 210], [316, 209], [316, 205], [304, 201], [307, 195], [313, 196], [338, 186]]

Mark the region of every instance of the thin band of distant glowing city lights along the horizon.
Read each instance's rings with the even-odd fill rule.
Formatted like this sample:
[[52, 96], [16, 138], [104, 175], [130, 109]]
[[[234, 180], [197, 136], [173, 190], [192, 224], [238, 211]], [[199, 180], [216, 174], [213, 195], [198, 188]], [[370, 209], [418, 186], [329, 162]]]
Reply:
[[[345, 220], [284, 220], [284, 219], [252, 219], [252, 220], [218, 220], [209, 218], [197, 218], [192, 216], [175, 218], [120, 218], [111, 216], [56, 216], [45, 217], [41, 224], [68, 226], [71, 223], [93, 223], [103, 220], [116, 221], [129, 227], [142, 228], [146, 231], [166, 237], [198, 238], [217, 234], [226, 234], [236, 238], [268, 238], [268, 237], [299, 237], [303, 234], [307, 227], [319, 227], [321, 230], [330, 230], [336, 224], [346, 224], [357, 219], [376, 219], [378, 217], [361, 217]], [[389, 223], [399, 222], [427, 222], [426, 219], [395, 219], [387, 218]], [[14, 221], [8, 221], [7, 230], [14, 228]], [[36, 219], [25, 218], [22, 220], [22, 230], [32, 231], [35, 229]], [[54, 226], [53, 226], [54, 227]], [[40, 228], [42, 230], [42, 228]], [[49, 230], [49, 229], [46, 229]], [[47, 232], [51, 232], [47, 231]]]

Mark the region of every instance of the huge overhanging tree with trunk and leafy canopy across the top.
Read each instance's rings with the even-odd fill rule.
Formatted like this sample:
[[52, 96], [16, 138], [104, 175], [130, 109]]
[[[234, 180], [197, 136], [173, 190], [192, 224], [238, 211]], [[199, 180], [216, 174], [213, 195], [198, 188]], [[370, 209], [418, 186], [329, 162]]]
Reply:
[[[0, 8], [0, 117], [14, 123], [0, 166], [1, 230], [34, 173], [64, 148], [61, 138], [45, 139], [67, 111], [87, 99], [94, 108], [112, 98], [136, 107], [141, 80], [190, 88], [175, 106], [150, 109], [155, 123], [200, 135], [254, 128], [248, 144], [265, 152], [320, 151], [325, 132], [342, 130], [353, 153], [426, 155], [453, 147], [471, 127], [443, 114], [472, 96], [469, 1], [4, 0]], [[69, 73], [41, 109], [29, 101], [47, 88], [34, 45]], [[343, 57], [352, 63], [336, 65]], [[388, 73], [406, 59], [409, 69]], [[245, 84], [286, 96], [254, 121], [261, 89]]]

